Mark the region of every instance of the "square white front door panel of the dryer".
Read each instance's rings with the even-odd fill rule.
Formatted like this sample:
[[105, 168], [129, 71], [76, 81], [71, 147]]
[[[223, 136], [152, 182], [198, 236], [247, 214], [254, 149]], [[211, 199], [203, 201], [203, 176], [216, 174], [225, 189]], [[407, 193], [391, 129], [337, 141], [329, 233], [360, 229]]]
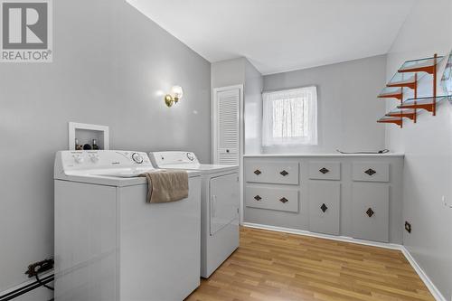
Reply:
[[239, 174], [225, 174], [210, 181], [211, 235], [238, 219]]

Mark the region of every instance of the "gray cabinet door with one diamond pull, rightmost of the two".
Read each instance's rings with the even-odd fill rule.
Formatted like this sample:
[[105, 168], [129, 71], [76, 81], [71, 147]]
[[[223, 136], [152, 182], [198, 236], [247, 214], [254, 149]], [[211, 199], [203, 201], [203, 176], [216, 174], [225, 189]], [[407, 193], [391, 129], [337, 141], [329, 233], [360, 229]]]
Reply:
[[387, 242], [389, 239], [389, 185], [353, 183], [353, 237]]

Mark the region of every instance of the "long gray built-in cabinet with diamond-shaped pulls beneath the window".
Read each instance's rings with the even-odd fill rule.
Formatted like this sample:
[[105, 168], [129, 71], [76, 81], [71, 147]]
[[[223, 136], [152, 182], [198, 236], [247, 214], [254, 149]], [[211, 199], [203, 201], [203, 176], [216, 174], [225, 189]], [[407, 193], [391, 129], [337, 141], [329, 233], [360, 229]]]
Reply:
[[401, 243], [403, 155], [245, 155], [243, 166], [246, 223]]

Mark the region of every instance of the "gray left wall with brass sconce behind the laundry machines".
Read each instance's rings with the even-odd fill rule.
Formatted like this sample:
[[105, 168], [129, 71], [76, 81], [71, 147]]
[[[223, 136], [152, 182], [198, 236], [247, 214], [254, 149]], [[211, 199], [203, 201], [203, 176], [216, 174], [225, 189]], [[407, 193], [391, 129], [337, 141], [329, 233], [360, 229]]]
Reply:
[[[0, 68], [0, 291], [53, 253], [53, 157], [68, 121], [107, 125], [110, 148], [211, 161], [211, 65], [123, 0], [53, 1], [54, 61]], [[160, 92], [184, 88], [166, 108]]]

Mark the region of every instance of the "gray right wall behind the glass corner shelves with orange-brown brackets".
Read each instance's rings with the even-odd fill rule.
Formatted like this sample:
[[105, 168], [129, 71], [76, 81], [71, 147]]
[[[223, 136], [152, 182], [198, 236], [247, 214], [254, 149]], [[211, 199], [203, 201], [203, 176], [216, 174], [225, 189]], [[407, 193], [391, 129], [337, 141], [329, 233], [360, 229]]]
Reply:
[[[417, 0], [388, 54], [387, 79], [403, 61], [447, 54], [452, 49], [452, 2]], [[444, 64], [443, 64], [444, 65]], [[443, 66], [441, 66], [443, 67]], [[442, 74], [442, 68], [438, 75]], [[419, 96], [431, 95], [431, 78], [420, 82]], [[442, 89], [438, 88], [438, 93]], [[396, 101], [387, 100], [388, 109]], [[405, 153], [403, 215], [412, 232], [403, 244], [450, 300], [452, 296], [452, 106], [438, 106], [437, 116], [420, 110], [418, 123], [387, 126], [388, 146]], [[442, 201], [446, 198], [447, 205]]]

